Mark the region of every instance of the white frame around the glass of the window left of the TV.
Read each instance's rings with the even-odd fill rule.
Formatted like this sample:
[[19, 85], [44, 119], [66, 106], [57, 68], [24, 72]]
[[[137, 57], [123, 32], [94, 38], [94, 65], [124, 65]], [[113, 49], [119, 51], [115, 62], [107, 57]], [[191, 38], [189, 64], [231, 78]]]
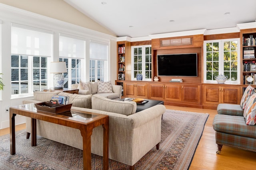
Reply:
[[[152, 49], [152, 46], [151, 45], [138, 45], [138, 46], [132, 46], [132, 73], [131, 73], [131, 79], [132, 80], [136, 80], [136, 78], [134, 78], [134, 48], [142, 48], [142, 80], [147, 80], [147, 81], [151, 81], [152, 78], [145, 78], [146, 76], [146, 68], [145, 68], [145, 65], [146, 65], [146, 62], [145, 62], [145, 57], [146, 57], [146, 54], [145, 54], [145, 48], [146, 47], [151, 47]], [[152, 68], [152, 53], [151, 53], [151, 68]], [[152, 76], [152, 69], [151, 69], [151, 76]]]

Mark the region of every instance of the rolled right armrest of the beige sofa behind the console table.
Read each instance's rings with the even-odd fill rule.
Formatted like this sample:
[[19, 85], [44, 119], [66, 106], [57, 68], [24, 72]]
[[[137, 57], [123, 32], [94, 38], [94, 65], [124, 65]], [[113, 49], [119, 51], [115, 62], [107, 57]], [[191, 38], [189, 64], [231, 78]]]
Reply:
[[148, 121], [155, 119], [156, 117], [162, 117], [162, 114], [166, 111], [166, 108], [164, 105], [159, 104], [153, 107], [150, 107], [148, 109], [139, 111], [137, 113], [134, 113], [132, 115], [129, 115], [128, 118], [132, 119], [132, 127], [133, 129], [136, 127], [139, 127]]

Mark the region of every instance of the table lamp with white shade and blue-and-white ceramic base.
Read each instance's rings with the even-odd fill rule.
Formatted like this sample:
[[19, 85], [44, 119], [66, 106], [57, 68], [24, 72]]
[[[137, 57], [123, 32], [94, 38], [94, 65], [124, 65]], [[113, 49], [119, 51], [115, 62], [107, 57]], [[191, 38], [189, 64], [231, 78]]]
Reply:
[[61, 89], [64, 85], [63, 72], [67, 72], [66, 62], [51, 62], [50, 73], [56, 73], [53, 76], [54, 88]]

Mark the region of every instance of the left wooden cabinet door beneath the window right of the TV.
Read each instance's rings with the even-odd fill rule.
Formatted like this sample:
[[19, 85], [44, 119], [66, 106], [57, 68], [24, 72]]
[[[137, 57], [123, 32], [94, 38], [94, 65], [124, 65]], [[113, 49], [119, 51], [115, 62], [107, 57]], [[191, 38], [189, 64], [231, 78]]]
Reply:
[[218, 105], [220, 103], [219, 86], [203, 86], [203, 103]]

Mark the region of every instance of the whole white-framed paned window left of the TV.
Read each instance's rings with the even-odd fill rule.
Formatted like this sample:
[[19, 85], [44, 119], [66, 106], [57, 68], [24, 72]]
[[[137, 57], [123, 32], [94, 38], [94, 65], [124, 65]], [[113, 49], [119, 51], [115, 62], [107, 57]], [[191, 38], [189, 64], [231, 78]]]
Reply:
[[151, 80], [151, 45], [132, 47], [132, 79], [142, 74], [144, 80]]

